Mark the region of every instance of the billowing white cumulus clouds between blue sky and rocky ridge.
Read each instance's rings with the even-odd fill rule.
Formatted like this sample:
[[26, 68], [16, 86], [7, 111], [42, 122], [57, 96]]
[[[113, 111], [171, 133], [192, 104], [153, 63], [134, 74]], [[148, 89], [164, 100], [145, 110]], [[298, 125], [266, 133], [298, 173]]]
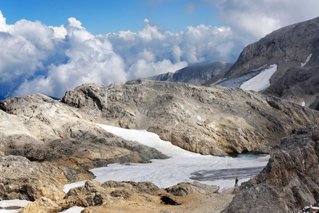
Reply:
[[228, 27], [189, 26], [170, 33], [145, 19], [137, 33], [93, 35], [76, 18], [62, 26], [27, 20], [7, 25], [0, 13], [0, 48], [0, 94], [62, 97], [86, 82], [108, 85], [234, 61], [242, 47]]

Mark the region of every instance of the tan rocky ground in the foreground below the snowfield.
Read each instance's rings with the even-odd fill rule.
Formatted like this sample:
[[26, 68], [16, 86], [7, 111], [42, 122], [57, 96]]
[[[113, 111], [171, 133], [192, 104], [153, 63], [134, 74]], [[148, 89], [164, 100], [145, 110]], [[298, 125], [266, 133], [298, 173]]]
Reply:
[[183, 182], [175, 188], [188, 189], [187, 194], [176, 196], [169, 189], [159, 189], [151, 182], [87, 180], [84, 186], [71, 189], [60, 200], [47, 197], [35, 200], [22, 213], [59, 212], [74, 206], [84, 207], [83, 212], [196, 212], [201, 209], [204, 212], [214, 207], [219, 212], [225, 204], [216, 204], [216, 198], [218, 202], [233, 198], [233, 195], [220, 195], [216, 187], [198, 182]]

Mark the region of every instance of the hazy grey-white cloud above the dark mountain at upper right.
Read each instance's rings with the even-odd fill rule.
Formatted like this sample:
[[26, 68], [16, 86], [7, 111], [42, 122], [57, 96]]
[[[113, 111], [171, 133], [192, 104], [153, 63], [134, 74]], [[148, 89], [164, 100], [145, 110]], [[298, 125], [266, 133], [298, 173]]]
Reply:
[[246, 45], [278, 28], [318, 17], [318, 0], [200, 0], [194, 7], [217, 9], [216, 18]]

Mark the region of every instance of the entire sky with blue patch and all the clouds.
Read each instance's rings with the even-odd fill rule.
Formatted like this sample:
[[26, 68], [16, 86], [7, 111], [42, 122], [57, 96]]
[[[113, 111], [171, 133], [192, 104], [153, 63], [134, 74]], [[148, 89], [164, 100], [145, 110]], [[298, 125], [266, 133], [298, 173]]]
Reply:
[[0, 95], [61, 98], [190, 65], [319, 14], [318, 0], [0, 0]]

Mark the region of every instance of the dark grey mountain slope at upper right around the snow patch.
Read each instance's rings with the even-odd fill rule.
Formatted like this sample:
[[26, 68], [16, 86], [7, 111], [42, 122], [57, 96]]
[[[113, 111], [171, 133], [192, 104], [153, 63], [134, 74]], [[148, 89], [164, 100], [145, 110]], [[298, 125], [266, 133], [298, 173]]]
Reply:
[[[280, 28], [256, 43], [248, 45], [239, 58], [222, 75], [213, 77], [205, 84], [240, 87], [248, 79], [264, 70], [262, 67], [277, 65], [264, 94], [319, 109], [319, 18]], [[234, 81], [236, 84], [234, 84]]]

